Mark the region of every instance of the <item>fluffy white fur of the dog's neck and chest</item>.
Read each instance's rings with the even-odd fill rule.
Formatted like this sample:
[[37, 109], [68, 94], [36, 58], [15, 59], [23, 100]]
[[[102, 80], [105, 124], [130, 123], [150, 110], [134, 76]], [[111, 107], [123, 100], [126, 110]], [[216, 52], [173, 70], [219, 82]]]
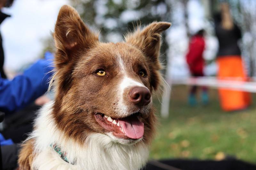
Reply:
[[[63, 136], [51, 117], [52, 103], [45, 105], [35, 122], [35, 130], [30, 138], [36, 139], [34, 161], [35, 169], [140, 169], [148, 159], [148, 146], [142, 142], [135, 145], [115, 143], [105, 134], [90, 134], [81, 146], [72, 139]], [[50, 146], [52, 143], [67, 153], [68, 162]], [[44, 160], [44, 161], [42, 161]], [[54, 163], [53, 163], [54, 162]], [[48, 168], [49, 167], [49, 168]], [[51, 169], [50, 168], [50, 169]]]

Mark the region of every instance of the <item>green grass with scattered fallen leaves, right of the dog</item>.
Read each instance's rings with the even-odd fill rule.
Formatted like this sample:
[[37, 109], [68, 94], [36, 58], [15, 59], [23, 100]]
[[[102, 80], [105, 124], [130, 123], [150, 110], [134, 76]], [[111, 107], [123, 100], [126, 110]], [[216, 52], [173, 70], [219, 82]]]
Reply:
[[[159, 117], [150, 158], [237, 159], [256, 162], [256, 104], [244, 111], [220, 109], [217, 90], [210, 90], [210, 103], [187, 104], [188, 87], [172, 88], [170, 116]], [[255, 95], [253, 95], [255, 99]], [[255, 100], [253, 100], [254, 102]], [[160, 104], [156, 107], [160, 110]], [[255, 102], [254, 102], [255, 103]]]

